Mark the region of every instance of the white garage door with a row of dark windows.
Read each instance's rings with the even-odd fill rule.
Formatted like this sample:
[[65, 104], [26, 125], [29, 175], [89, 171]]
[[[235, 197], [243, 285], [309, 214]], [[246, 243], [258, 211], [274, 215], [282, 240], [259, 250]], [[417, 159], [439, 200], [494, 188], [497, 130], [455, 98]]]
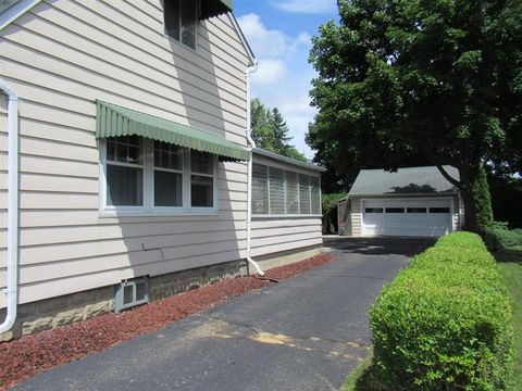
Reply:
[[451, 200], [362, 200], [362, 236], [439, 237], [452, 230]]

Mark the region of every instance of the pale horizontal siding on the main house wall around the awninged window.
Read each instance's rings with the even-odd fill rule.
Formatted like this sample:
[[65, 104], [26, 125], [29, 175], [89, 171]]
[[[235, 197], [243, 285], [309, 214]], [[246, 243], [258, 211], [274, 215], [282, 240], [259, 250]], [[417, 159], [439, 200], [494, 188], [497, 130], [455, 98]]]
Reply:
[[[216, 164], [216, 213], [100, 216], [96, 99], [247, 144], [249, 60], [228, 16], [198, 22], [192, 51], [164, 35], [160, 4], [40, 2], [0, 31], [2, 78], [21, 100], [20, 303], [246, 256], [246, 163]], [[2, 99], [0, 175], [7, 169]]]

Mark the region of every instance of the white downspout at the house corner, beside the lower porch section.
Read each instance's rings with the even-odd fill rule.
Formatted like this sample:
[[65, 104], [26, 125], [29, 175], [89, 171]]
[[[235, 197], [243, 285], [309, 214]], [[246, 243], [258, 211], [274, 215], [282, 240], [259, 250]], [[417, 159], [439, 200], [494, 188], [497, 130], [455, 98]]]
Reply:
[[256, 272], [264, 276], [264, 272], [261, 269], [259, 264], [252, 260], [250, 256], [251, 252], [251, 242], [252, 242], [252, 159], [253, 153], [252, 149], [256, 148], [256, 141], [251, 137], [251, 126], [250, 126], [250, 74], [256, 72], [258, 68], [258, 61], [253, 62], [252, 66], [247, 68], [247, 140], [249, 143], [248, 150], [250, 151], [250, 160], [248, 161], [248, 179], [247, 179], [247, 261], [250, 263]]

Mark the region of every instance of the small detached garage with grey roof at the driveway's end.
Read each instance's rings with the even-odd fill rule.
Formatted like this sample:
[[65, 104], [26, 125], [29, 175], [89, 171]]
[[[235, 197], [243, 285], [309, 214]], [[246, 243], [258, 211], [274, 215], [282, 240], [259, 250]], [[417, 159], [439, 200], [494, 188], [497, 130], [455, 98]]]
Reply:
[[352, 237], [439, 237], [463, 224], [459, 192], [435, 166], [361, 169], [339, 211], [339, 234]]

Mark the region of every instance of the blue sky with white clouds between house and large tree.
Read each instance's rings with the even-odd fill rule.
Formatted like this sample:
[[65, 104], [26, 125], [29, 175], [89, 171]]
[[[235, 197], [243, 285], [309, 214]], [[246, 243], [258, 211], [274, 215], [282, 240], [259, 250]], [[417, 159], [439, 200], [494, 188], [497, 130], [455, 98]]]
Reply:
[[315, 71], [308, 56], [319, 26], [338, 18], [336, 0], [234, 0], [234, 14], [260, 62], [251, 76], [252, 96], [279, 109], [290, 143], [312, 157], [304, 134], [315, 114], [309, 98]]

